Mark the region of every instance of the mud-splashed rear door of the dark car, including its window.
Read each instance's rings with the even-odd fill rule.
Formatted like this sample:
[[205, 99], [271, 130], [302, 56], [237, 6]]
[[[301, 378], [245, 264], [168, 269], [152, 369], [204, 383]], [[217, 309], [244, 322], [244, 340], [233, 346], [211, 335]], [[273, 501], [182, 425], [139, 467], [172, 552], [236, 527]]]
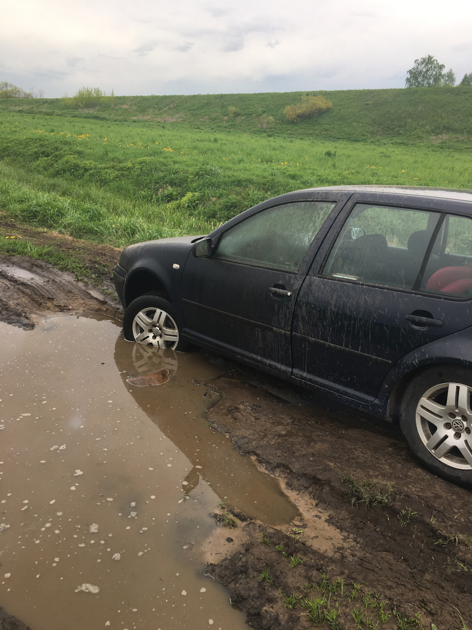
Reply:
[[[295, 377], [371, 400], [400, 358], [471, 325], [470, 295], [457, 292], [467, 280], [452, 285], [456, 294], [454, 288], [438, 289], [437, 282], [432, 287], [434, 273], [441, 277], [438, 270], [449, 269], [452, 259], [458, 263], [447, 249], [445, 230], [457, 217], [449, 219], [430, 200], [425, 206], [366, 202], [359, 194], [351, 198], [334, 226], [337, 237], [325, 241], [298, 295]], [[461, 221], [469, 231], [460, 224], [456, 232], [471, 233], [470, 217]], [[461, 261], [472, 270], [472, 246], [466, 242]], [[452, 237], [449, 243], [453, 248]], [[464, 278], [464, 268], [459, 271]]]

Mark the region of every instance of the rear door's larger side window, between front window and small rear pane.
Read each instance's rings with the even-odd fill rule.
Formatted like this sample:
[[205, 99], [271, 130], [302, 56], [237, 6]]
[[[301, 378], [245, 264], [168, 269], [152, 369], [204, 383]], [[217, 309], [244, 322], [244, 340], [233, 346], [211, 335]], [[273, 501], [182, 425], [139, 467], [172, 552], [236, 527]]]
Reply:
[[337, 237], [323, 275], [412, 289], [439, 212], [357, 203]]

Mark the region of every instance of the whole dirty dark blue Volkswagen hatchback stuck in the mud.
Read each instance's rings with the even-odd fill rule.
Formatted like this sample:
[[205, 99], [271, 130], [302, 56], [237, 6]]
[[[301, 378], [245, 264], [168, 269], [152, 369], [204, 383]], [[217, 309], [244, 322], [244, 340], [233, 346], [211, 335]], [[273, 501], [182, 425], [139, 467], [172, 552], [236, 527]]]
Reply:
[[472, 484], [472, 192], [330, 186], [126, 248], [126, 338], [188, 342], [394, 421]]

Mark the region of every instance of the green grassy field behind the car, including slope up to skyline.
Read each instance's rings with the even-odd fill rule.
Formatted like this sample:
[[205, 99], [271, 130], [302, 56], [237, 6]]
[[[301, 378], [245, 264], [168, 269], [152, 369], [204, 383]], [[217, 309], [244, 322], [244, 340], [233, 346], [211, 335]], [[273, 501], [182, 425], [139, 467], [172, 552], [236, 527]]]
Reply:
[[1, 101], [0, 212], [123, 246], [203, 234], [299, 188], [472, 188], [472, 88], [325, 95], [332, 110], [296, 125], [281, 112], [298, 93], [119, 97], [93, 112]]

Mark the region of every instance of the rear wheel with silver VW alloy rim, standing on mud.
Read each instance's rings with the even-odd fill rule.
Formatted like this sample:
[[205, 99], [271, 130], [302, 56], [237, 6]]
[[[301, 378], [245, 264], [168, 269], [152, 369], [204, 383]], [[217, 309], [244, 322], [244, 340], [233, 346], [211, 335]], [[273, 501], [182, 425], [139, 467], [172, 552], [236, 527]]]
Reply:
[[472, 487], [472, 370], [433, 367], [413, 378], [400, 406], [400, 428], [425, 467]]

